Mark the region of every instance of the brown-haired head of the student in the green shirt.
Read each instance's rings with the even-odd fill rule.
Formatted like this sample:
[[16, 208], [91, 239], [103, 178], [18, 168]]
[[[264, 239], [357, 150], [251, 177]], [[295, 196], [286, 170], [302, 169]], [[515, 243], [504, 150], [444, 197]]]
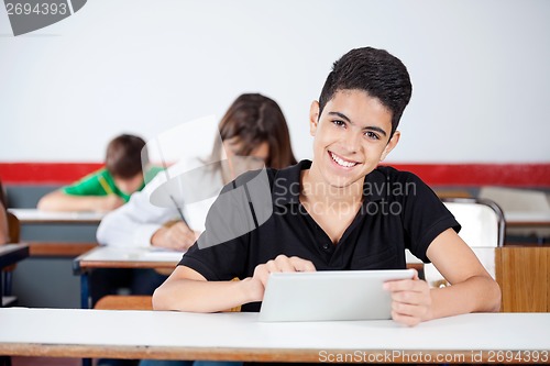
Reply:
[[[139, 136], [122, 134], [107, 146], [106, 168], [117, 178], [130, 179], [142, 173], [142, 149], [145, 141]], [[144, 164], [147, 163], [146, 149]]]

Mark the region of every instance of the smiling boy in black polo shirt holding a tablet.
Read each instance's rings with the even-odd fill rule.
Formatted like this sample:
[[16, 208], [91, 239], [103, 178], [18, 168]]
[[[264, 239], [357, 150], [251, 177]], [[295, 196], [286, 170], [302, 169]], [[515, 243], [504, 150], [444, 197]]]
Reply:
[[[220, 230], [258, 208], [217, 200], [206, 231], [153, 295], [154, 309], [258, 311], [271, 273], [405, 268], [408, 248], [452, 286], [430, 289], [418, 276], [386, 282], [396, 322], [498, 311], [498, 285], [457, 234], [460, 224], [444, 204], [414, 174], [378, 167], [399, 141], [411, 89], [405, 65], [385, 51], [352, 49], [337, 60], [310, 107], [312, 162], [267, 169], [273, 214], [218, 245]], [[220, 198], [254, 176], [226, 186]]]

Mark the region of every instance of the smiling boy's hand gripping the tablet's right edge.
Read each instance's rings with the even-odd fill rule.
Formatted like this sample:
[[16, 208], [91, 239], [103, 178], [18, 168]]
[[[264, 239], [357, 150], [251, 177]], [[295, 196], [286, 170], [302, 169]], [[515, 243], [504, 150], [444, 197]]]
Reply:
[[384, 284], [392, 295], [392, 319], [405, 325], [416, 325], [431, 315], [431, 293], [428, 282], [418, 278], [393, 280]]

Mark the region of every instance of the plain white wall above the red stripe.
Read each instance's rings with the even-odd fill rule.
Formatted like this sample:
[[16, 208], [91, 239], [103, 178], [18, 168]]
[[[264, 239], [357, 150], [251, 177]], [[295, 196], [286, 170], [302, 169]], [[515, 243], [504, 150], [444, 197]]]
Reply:
[[100, 162], [116, 134], [221, 117], [244, 91], [277, 100], [310, 157], [310, 101], [364, 45], [411, 74], [391, 162], [549, 162], [549, 20], [546, 0], [90, 0], [14, 37], [0, 9], [0, 162]]

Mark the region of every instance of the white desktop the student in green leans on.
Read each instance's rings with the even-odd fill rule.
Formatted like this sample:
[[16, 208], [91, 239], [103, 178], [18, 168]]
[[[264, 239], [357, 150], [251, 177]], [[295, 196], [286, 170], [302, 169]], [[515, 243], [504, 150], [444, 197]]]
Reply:
[[99, 223], [106, 212], [54, 212], [37, 209], [8, 209], [21, 223]]

